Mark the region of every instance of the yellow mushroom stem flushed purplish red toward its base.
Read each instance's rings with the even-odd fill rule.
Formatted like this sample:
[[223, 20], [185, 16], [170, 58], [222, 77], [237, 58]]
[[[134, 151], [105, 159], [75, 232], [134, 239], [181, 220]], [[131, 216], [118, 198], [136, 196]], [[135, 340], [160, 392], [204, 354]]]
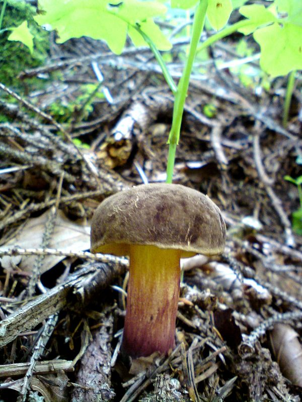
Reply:
[[122, 352], [133, 358], [175, 346], [180, 250], [130, 246]]

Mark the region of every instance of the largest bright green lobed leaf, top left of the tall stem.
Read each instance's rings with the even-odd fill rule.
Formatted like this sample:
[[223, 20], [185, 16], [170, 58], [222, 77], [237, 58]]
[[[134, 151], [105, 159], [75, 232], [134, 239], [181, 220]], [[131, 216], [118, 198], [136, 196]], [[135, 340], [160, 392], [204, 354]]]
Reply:
[[[152, 40], [153, 35], [159, 38], [158, 28], [152, 29], [148, 19], [164, 15], [167, 11], [159, 2], [139, 0], [41, 0], [39, 9], [44, 13], [35, 17], [36, 22], [56, 30], [59, 43], [70, 38], [90, 36], [105, 40], [116, 54], [122, 52], [128, 29], [136, 23], [146, 24]], [[167, 40], [164, 48], [166, 50]]]

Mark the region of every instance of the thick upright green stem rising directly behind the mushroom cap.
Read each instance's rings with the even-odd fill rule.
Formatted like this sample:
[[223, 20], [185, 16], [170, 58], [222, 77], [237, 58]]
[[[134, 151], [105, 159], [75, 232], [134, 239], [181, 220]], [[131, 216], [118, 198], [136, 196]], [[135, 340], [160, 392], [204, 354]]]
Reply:
[[207, 5], [208, 5], [207, 0], [200, 0], [197, 6], [194, 15], [188, 58], [182, 77], [177, 86], [177, 92], [175, 95], [174, 109], [173, 109], [172, 127], [168, 139], [169, 154], [167, 162], [167, 179], [166, 179], [167, 183], [172, 183], [173, 179], [176, 146], [178, 144], [180, 137], [180, 126], [182, 122], [182, 116], [187, 97], [187, 91], [189, 87], [190, 75], [192, 71], [194, 57], [196, 54], [196, 49], [204, 26]]

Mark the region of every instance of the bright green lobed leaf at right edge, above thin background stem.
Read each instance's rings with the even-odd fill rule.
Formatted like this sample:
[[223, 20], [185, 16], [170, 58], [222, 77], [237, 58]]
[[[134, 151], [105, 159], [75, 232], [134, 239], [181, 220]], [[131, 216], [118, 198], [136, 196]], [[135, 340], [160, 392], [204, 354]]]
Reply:
[[272, 77], [302, 69], [302, 27], [273, 24], [254, 32], [254, 39], [261, 48], [260, 67]]

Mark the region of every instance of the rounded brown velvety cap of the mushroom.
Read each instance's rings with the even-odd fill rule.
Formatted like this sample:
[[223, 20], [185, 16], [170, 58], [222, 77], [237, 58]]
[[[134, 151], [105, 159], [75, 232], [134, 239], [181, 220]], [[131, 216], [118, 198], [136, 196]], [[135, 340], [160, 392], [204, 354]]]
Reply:
[[224, 250], [225, 235], [220, 210], [207, 195], [180, 184], [141, 184], [99, 205], [91, 251], [129, 255], [130, 245], [152, 245], [183, 256], [213, 255]]

